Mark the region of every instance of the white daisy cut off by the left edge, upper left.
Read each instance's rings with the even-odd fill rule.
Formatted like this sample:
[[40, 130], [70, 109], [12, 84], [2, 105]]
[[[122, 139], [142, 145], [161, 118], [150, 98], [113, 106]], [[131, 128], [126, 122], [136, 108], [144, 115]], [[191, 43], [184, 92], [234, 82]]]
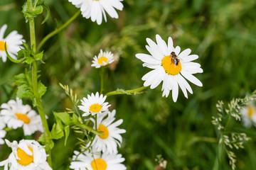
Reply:
[[23, 48], [21, 47], [22, 41], [25, 42], [25, 40], [22, 39], [23, 35], [18, 34], [16, 30], [12, 31], [11, 33], [9, 33], [9, 35], [7, 35], [6, 38], [4, 38], [4, 32], [6, 31], [6, 28], [6, 24], [4, 24], [4, 26], [0, 28], [0, 57], [2, 58], [3, 62], [6, 62], [7, 59], [7, 55], [4, 48], [5, 42], [7, 52], [14, 59], [17, 59], [16, 56], [18, 51], [21, 50], [21, 48]]

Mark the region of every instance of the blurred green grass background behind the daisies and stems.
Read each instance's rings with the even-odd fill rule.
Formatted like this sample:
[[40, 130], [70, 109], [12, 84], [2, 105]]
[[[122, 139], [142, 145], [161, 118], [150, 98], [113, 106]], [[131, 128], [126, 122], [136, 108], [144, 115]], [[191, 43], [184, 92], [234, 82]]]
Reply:
[[[0, 27], [8, 24], [6, 35], [18, 30], [29, 42], [28, 23], [21, 6], [24, 1], [0, 1]], [[78, 11], [65, 0], [46, 0], [51, 15], [41, 25], [43, 15], [36, 18], [37, 43], [68, 21]], [[119, 149], [127, 169], [153, 170], [158, 164], [156, 155], [168, 161], [166, 169], [212, 169], [218, 144], [203, 142], [201, 137], [216, 137], [211, 117], [217, 113], [215, 103], [244, 97], [255, 90], [256, 76], [256, 1], [254, 0], [126, 0], [119, 18], [107, 18], [100, 26], [79, 16], [68, 28], [51, 38], [43, 46], [46, 64], [40, 64], [41, 81], [48, 86], [43, 106], [53, 124], [53, 111], [65, 111], [71, 103], [58, 85], [68, 84], [79, 98], [100, 91], [100, 69], [90, 67], [92, 57], [100, 49], [111, 50], [119, 61], [107, 69], [105, 91], [135, 89], [143, 85], [142, 76], [150, 69], [142, 67], [135, 54], [148, 53], [146, 38], [155, 40], [159, 34], [169, 36], [181, 50], [191, 48], [199, 56], [203, 74], [196, 77], [203, 87], [191, 84], [193, 95], [178, 101], [161, 97], [161, 86], [136, 96], [110, 96], [107, 98], [117, 118], [124, 119], [120, 128], [127, 130]], [[46, 13], [44, 13], [44, 16]], [[22, 64], [0, 61], [0, 103], [15, 98], [16, 87], [11, 81], [23, 72]], [[31, 101], [23, 99], [24, 103]], [[235, 151], [238, 169], [256, 169], [256, 131], [235, 123], [238, 132], [252, 137], [244, 150]], [[9, 140], [21, 140], [22, 130], [11, 131]], [[36, 135], [26, 137], [33, 139]], [[53, 169], [68, 169], [75, 145], [76, 134], [68, 139], [64, 148], [58, 140], [53, 149]], [[199, 140], [198, 140], [199, 139]], [[11, 149], [0, 147], [0, 160], [6, 159]], [[68, 160], [68, 161], [67, 161]], [[0, 168], [1, 169], [1, 168]], [[230, 169], [226, 158], [221, 169]]]

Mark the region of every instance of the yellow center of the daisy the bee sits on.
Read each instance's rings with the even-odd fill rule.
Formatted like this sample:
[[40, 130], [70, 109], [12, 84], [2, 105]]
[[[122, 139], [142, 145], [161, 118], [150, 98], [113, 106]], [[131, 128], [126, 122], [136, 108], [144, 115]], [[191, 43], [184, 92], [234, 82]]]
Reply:
[[171, 60], [171, 55], [164, 57], [161, 65], [164, 67], [164, 71], [167, 74], [176, 75], [181, 72], [181, 62], [178, 62], [178, 65], [174, 64], [174, 62]]

